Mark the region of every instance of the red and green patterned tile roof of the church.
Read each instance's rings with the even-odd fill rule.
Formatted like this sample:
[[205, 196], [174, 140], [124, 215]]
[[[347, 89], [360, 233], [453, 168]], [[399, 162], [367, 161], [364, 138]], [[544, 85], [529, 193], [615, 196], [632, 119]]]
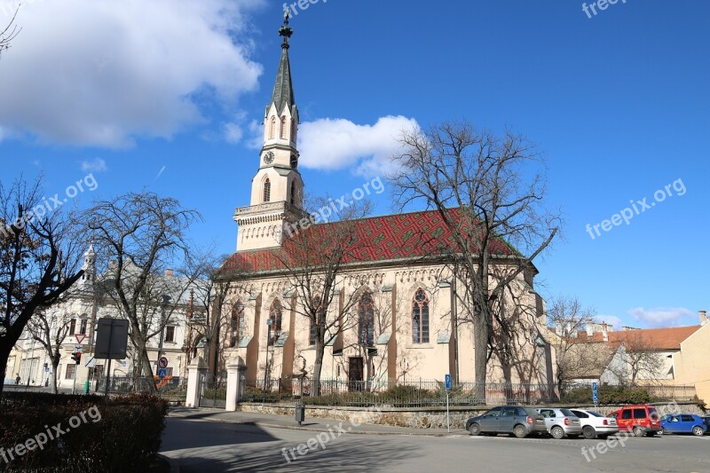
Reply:
[[[458, 214], [458, 209], [450, 211]], [[421, 259], [441, 254], [438, 248], [442, 246], [442, 241], [448, 247], [454, 240], [436, 210], [360, 218], [352, 223], [355, 225], [357, 243], [351, 248], [351, 254], [344, 258], [343, 264]], [[330, 225], [337, 223], [312, 225], [292, 238], [308, 238], [314, 232], [327, 232]], [[284, 250], [294, 247], [288, 244], [291, 240], [284, 244]], [[493, 240], [490, 248], [493, 256], [514, 254], [514, 249], [502, 240]], [[223, 271], [244, 273], [283, 270], [284, 265], [276, 254], [280, 250], [268, 248], [236, 252], [227, 259]]]

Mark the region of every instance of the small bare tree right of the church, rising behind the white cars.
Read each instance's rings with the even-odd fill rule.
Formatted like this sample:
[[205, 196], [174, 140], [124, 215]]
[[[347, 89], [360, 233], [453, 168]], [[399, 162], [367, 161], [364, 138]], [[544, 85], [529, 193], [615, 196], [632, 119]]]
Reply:
[[591, 360], [580, 347], [585, 342], [580, 332], [594, 322], [594, 310], [583, 307], [577, 297], [559, 296], [548, 307], [548, 327], [555, 328], [550, 344], [556, 353], [556, 382], [560, 396], [564, 395], [565, 382], [578, 377], [590, 368]]

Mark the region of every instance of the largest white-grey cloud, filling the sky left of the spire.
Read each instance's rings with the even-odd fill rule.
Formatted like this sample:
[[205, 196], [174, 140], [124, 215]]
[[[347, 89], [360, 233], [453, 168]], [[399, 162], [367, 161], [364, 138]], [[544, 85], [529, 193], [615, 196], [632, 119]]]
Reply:
[[262, 4], [23, 3], [0, 65], [0, 127], [77, 146], [169, 138], [204, 120], [201, 103], [256, 89], [262, 67], [249, 59], [245, 12]]

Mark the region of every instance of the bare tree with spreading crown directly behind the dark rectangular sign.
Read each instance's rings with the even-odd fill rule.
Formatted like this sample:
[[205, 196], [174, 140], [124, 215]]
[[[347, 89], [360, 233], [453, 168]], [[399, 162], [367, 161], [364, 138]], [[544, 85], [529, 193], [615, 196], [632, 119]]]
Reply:
[[185, 267], [189, 253], [185, 232], [199, 217], [174, 199], [148, 192], [99, 201], [84, 212], [88, 236], [105, 273], [106, 296], [129, 320], [134, 377], [153, 376], [148, 343], [173, 321], [196, 278], [195, 274], [165, 276], [172, 275], [170, 268]]

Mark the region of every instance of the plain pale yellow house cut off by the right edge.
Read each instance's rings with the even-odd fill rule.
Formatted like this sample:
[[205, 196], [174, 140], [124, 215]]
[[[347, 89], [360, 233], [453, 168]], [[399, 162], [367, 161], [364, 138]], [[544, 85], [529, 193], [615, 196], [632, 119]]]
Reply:
[[698, 398], [710, 402], [710, 324], [707, 312], [700, 311], [700, 328], [681, 342], [673, 355], [675, 381], [694, 385]]

